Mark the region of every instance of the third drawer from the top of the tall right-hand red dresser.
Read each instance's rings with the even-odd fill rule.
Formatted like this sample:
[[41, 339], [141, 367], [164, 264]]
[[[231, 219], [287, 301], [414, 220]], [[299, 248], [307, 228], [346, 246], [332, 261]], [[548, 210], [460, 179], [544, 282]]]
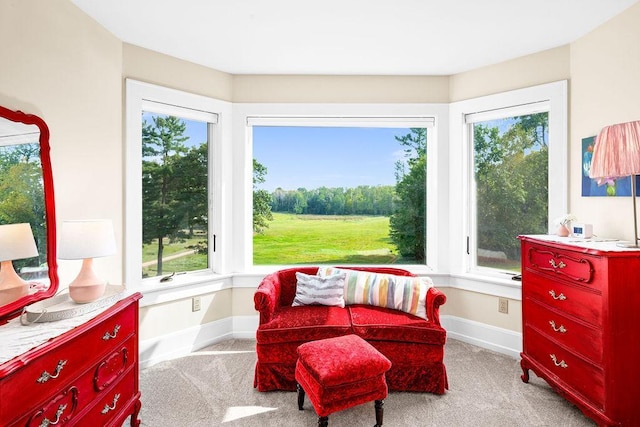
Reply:
[[551, 310], [530, 298], [524, 300], [525, 326], [550, 340], [575, 350], [596, 364], [602, 363], [602, 329], [580, 323], [575, 318]]

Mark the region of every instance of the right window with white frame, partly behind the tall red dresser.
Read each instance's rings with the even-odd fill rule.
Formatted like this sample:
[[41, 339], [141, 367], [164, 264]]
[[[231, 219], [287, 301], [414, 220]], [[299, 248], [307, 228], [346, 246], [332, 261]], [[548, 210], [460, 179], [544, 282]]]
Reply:
[[452, 274], [514, 275], [518, 235], [567, 212], [567, 83], [452, 103], [450, 131]]

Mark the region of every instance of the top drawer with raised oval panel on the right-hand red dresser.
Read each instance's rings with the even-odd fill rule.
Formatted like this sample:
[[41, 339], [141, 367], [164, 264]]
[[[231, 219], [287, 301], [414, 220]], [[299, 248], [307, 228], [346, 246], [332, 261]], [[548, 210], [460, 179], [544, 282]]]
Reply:
[[554, 279], [596, 287], [600, 290], [603, 261], [601, 258], [578, 252], [527, 245], [524, 253], [524, 268]]

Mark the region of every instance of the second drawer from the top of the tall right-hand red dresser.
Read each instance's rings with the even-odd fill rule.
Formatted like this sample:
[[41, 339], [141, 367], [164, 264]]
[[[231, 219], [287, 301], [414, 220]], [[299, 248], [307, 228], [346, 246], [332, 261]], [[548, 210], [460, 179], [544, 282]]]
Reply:
[[594, 290], [550, 281], [526, 272], [522, 278], [522, 294], [567, 316], [577, 317], [596, 327], [602, 326], [602, 295]]

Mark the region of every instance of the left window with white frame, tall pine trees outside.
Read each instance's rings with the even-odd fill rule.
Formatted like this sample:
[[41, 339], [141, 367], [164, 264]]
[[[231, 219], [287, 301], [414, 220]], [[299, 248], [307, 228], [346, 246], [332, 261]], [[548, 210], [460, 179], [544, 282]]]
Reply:
[[218, 268], [221, 107], [127, 80], [127, 283]]

